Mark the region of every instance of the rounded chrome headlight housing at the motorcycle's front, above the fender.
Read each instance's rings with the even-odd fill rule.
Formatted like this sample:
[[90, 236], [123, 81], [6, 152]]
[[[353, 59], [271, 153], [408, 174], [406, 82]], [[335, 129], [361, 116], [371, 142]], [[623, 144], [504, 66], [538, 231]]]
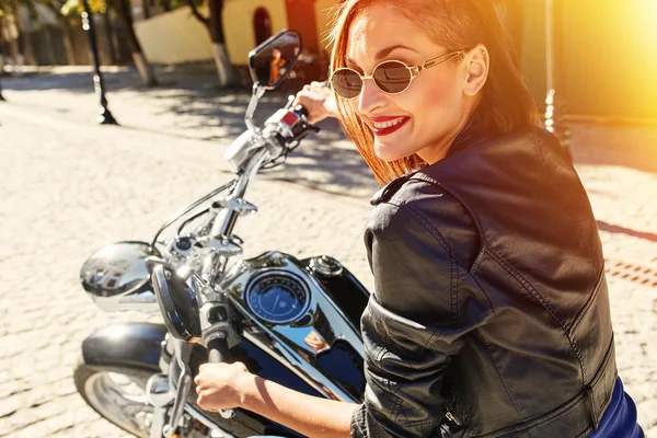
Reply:
[[80, 269], [82, 287], [106, 312], [158, 312], [146, 258], [159, 252], [146, 242], [118, 242], [96, 251]]

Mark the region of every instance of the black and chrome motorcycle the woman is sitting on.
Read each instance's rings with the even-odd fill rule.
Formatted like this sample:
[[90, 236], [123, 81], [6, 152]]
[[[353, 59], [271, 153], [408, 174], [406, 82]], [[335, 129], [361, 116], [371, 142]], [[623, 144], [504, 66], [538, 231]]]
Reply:
[[[269, 82], [274, 50], [289, 62]], [[224, 154], [232, 181], [174, 215], [152, 242], [105, 246], [81, 268], [82, 286], [102, 310], [161, 312], [161, 324], [122, 323], [91, 334], [74, 370], [85, 402], [135, 436], [301, 436], [245, 410], [201, 410], [194, 376], [207, 361], [241, 361], [307, 394], [362, 401], [366, 288], [327, 255], [297, 260], [270, 251], [244, 260], [244, 242], [233, 234], [241, 216], [257, 211], [244, 199], [256, 174], [283, 164], [319, 130], [291, 97], [263, 127], [253, 117], [300, 53], [300, 36], [284, 31], [249, 54], [247, 129]]]

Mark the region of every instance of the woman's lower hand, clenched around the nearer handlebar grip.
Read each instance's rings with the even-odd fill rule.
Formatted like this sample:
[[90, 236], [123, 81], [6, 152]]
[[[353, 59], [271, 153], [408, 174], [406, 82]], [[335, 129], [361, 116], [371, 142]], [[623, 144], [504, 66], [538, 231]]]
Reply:
[[242, 407], [249, 391], [255, 387], [254, 376], [244, 364], [204, 364], [194, 378], [198, 405], [206, 411]]

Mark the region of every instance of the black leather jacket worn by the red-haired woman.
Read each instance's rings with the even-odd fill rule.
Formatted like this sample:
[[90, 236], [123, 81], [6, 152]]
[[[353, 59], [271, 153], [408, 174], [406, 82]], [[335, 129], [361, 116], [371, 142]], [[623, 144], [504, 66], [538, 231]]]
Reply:
[[556, 139], [530, 128], [373, 198], [354, 437], [588, 436], [616, 378], [602, 250]]

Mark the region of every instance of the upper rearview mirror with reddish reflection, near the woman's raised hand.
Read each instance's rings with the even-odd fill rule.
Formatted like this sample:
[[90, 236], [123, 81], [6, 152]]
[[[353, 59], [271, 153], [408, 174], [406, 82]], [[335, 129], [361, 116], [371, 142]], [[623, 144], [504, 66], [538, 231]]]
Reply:
[[249, 70], [253, 82], [275, 89], [290, 72], [301, 53], [301, 36], [281, 31], [249, 53]]

